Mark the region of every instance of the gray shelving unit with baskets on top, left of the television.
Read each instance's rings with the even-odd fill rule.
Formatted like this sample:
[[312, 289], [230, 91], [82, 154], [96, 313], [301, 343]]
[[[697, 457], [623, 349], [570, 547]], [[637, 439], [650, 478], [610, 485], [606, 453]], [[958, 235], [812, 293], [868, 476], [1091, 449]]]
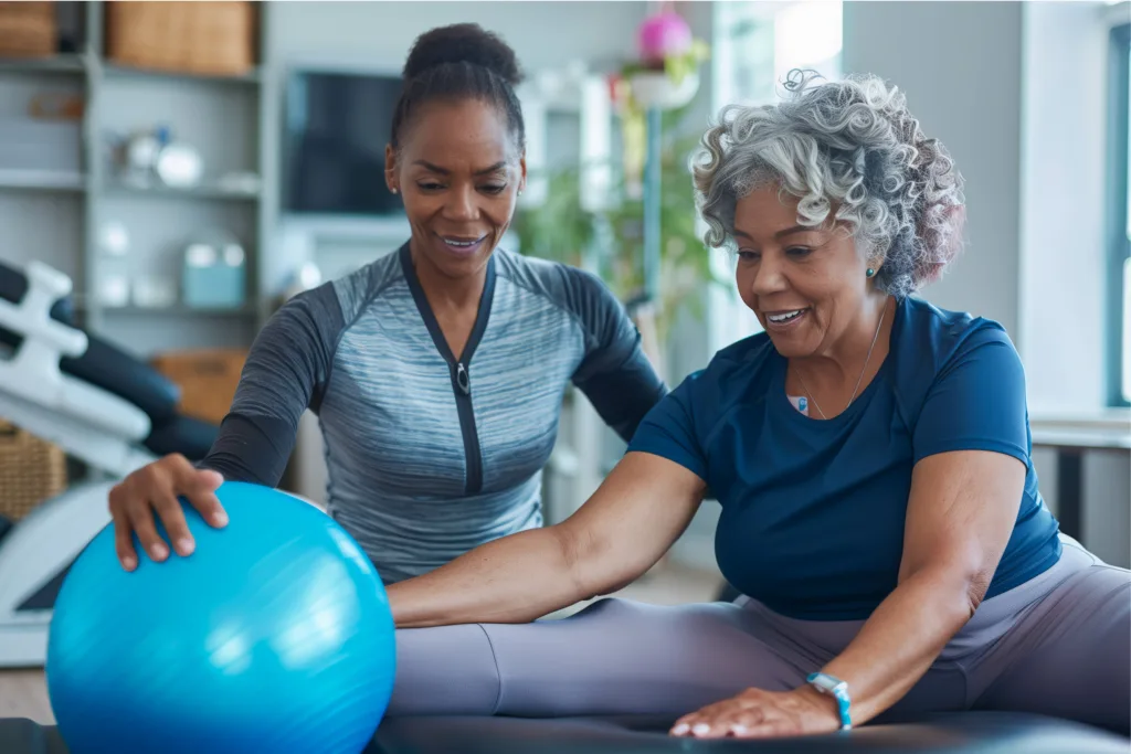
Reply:
[[[61, 2], [60, 5], [67, 5]], [[260, 245], [267, 236], [262, 201], [262, 133], [266, 110], [261, 68], [241, 76], [198, 76], [115, 63], [104, 44], [105, 3], [76, 3], [78, 52], [49, 59], [0, 58], [0, 116], [26, 113], [40, 92], [77, 94], [84, 101], [78, 129], [78, 172], [0, 164], [0, 260], [24, 266], [40, 259], [71, 275], [75, 309], [84, 327], [148, 358], [175, 347], [247, 346], [269, 306], [260, 301]], [[259, 29], [269, 12], [257, 8]], [[262, 61], [260, 60], [260, 63]], [[2, 103], [7, 104], [2, 104]], [[23, 111], [23, 112], [21, 112]], [[157, 125], [196, 148], [205, 179], [192, 188], [124, 180], [111, 159], [111, 141]], [[259, 185], [225, 182], [251, 173]], [[104, 253], [107, 223], [129, 236], [126, 257]], [[244, 303], [198, 309], [181, 301], [183, 250], [200, 233], [227, 233], [245, 252]], [[178, 291], [170, 306], [110, 305], [100, 296], [107, 272], [124, 270], [132, 284], [155, 277]]]

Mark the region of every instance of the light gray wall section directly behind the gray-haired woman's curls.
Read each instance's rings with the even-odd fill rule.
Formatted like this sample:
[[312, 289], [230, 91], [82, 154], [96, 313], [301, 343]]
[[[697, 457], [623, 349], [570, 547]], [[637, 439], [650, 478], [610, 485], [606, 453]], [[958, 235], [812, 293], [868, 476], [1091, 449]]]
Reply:
[[844, 70], [907, 94], [927, 136], [966, 179], [967, 239], [947, 276], [923, 292], [1020, 331], [1021, 12], [1018, 2], [846, 2]]

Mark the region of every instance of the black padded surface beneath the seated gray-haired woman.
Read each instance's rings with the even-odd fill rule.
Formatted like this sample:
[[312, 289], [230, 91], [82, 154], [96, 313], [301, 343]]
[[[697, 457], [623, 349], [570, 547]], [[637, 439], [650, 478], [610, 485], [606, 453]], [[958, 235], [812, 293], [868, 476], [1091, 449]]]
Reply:
[[[1052, 718], [961, 712], [828, 736], [692, 740], [666, 735], [671, 720], [589, 718], [394, 718], [365, 754], [1128, 754], [1131, 739]], [[0, 720], [3, 754], [68, 754], [53, 727]], [[122, 753], [127, 754], [127, 753]], [[138, 753], [141, 754], [141, 753]], [[261, 752], [258, 754], [270, 754]]]

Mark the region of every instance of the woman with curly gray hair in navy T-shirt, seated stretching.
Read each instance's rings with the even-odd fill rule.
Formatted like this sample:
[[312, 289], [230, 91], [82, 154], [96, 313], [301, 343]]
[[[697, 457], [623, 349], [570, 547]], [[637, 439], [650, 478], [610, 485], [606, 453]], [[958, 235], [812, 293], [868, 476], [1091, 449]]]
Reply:
[[[959, 245], [951, 158], [877, 78], [787, 88], [726, 109], [694, 165], [765, 332], [651, 409], [567, 521], [389, 588], [390, 714], [662, 713], [743, 737], [983, 708], [1128, 733], [1131, 573], [1044, 504], [1003, 329], [912, 295]], [[744, 597], [537, 621], [644, 574], [708, 488]]]

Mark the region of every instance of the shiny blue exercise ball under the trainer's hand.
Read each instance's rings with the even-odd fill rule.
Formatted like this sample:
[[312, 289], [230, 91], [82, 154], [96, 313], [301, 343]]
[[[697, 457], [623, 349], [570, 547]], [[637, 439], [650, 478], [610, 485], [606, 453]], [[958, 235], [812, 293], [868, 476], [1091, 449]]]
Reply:
[[[55, 601], [46, 683], [71, 754], [356, 754], [392, 693], [385, 588], [330, 517], [226, 482], [188, 557], [122, 570], [106, 527]], [[164, 530], [162, 530], [164, 536]], [[137, 545], [135, 538], [135, 545]]]

